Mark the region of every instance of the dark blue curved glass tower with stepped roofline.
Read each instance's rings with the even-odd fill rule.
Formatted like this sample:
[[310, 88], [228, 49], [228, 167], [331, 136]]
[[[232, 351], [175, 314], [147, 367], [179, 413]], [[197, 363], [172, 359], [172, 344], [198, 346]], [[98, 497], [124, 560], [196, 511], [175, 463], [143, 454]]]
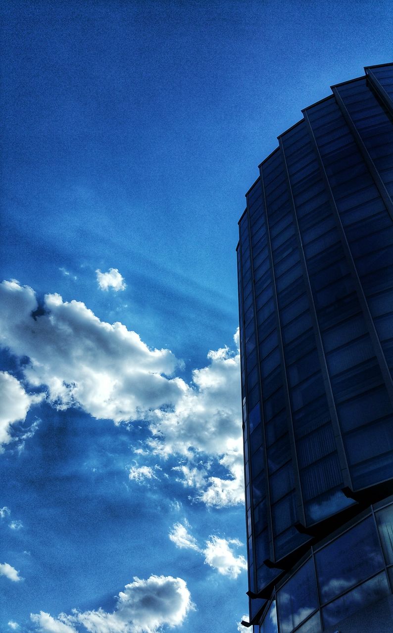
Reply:
[[240, 218], [254, 633], [393, 631], [393, 64], [278, 138]]

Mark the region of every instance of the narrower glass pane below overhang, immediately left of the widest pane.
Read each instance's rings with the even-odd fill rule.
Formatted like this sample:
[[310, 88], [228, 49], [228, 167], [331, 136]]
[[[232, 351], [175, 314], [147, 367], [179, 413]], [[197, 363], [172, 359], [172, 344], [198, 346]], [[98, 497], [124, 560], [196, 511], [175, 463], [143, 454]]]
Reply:
[[292, 633], [292, 630], [317, 608], [318, 590], [314, 564], [310, 559], [277, 592], [281, 633]]

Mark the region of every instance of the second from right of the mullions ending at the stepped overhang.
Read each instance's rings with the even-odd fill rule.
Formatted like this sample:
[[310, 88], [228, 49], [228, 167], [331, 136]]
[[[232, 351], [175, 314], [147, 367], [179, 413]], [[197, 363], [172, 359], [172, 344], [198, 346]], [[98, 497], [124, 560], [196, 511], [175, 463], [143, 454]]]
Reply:
[[[297, 518], [298, 518], [300, 523], [304, 524], [304, 523], [306, 523], [306, 515], [304, 513], [302, 488], [300, 486], [299, 463], [298, 463], [298, 460], [297, 460], [297, 450], [296, 450], [296, 444], [295, 444], [295, 435], [294, 435], [294, 432], [293, 432], [293, 420], [292, 420], [292, 409], [291, 409], [289, 389], [288, 389], [287, 366], [285, 364], [283, 339], [282, 339], [282, 334], [281, 334], [281, 319], [280, 319], [280, 310], [278, 309], [278, 299], [277, 299], [277, 289], [276, 289], [276, 274], [274, 272], [273, 251], [272, 251], [272, 248], [271, 248], [269, 218], [268, 218], [268, 215], [267, 215], [266, 194], [265, 194], [265, 188], [264, 188], [262, 166], [259, 168], [259, 172], [261, 173], [262, 191], [263, 191], [263, 195], [264, 195], [264, 209], [265, 209], [265, 219], [266, 219], [267, 248], [268, 248], [268, 251], [269, 251], [271, 277], [272, 277], [272, 282], [273, 282], [273, 301], [274, 301], [274, 308], [275, 308], [275, 312], [276, 312], [276, 327], [277, 327], [278, 347], [280, 349], [280, 356], [281, 356], [281, 374], [282, 374], [282, 377], [283, 377], [283, 387], [284, 387], [284, 394], [285, 394], [284, 397], [285, 397], [285, 404], [286, 404], [286, 407], [287, 407], [288, 436], [289, 436], [289, 439], [290, 439], [291, 458], [292, 458], [293, 470], [294, 470], [294, 474], [295, 474], [295, 494], [296, 494]], [[275, 554], [274, 554], [273, 560], [276, 560]]]

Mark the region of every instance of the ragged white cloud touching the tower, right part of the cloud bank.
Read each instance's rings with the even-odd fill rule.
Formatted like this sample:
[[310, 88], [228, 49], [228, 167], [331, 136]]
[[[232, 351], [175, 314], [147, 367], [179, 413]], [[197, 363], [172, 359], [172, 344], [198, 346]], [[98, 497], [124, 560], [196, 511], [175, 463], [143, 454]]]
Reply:
[[[186, 456], [188, 463], [174, 470], [199, 491], [197, 499], [222, 508], [244, 503], [240, 355], [221, 348], [210, 351], [208, 358], [207, 367], [193, 371], [191, 385], [173, 410], [150, 414], [151, 448], [164, 456]], [[195, 451], [219, 458], [229, 477], [209, 476], [206, 465], [193, 463]]]

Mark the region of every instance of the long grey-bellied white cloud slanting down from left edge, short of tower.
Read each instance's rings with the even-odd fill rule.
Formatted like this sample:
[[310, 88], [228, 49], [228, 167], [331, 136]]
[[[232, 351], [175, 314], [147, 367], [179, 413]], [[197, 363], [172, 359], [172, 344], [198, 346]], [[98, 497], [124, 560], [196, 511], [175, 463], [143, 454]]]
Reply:
[[0, 301], [3, 345], [29, 356], [25, 377], [46, 385], [57, 408], [79, 405], [118, 423], [181, 398], [183, 381], [167, 377], [179, 361], [168, 349], [148, 348], [122, 323], [101, 322], [84, 303], [63, 302], [58, 294], [46, 295], [34, 318], [34, 291], [15, 281], [0, 284]]

